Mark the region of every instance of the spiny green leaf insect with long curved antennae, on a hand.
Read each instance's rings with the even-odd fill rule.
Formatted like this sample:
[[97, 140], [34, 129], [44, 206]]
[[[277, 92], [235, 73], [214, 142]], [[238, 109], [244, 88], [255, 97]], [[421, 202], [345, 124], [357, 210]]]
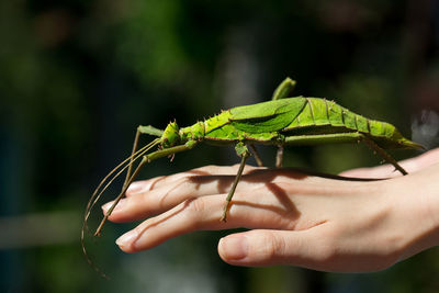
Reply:
[[[385, 161], [392, 164], [401, 173], [407, 174], [384, 149], [423, 149], [421, 145], [403, 137], [392, 124], [363, 117], [334, 101], [302, 95], [288, 98], [295, 83], [294, 80], [286, 78], [275, 89], [271, 101], [222, 111], [218, 115], [199, 121], [192, 126], [180, 128], [176, 122], [169, 123], [165, 131], [150, 125], [138, 126], [132, 156], [122, 161], [101, 181], [87, 205], [81, 230], [81, 243], [82, 250], [89, 262], [91, 263], [83, 245], [85, 230], [88, 230], [87, 221], [92, 207], [111, 182], [126, 170], [122, 191], [102, 218], [94, 232], [94, 236], [101, 234], [105, 221], [124, 196], [142, 167], [156, 159], [173, 157], [177, 153], [192, 149], [202, 142], [215, 145], [234, 145], [236, 154], [241, 158], [238, 172], [225, 199], [221, 218], [223, 222], [227, 221], [227, 212], [243, 174], [246, 160], [250, 156], [250, 150], [255, 155], [257, 164], [262, 166], [262, 161], [254, 146], [255, 144], [278, 146], [275, 166], [281, 167], [284, 146], [362, 142]], [[140, 134], [157, 136], [157, 138], [137, 149]], [[158, 149], [148, 154], [155, 146], [158, 146]], [[133, 164], [137, 160], [139, 162], [133, 170]], [[98, 269], [95, 268], [95, 270]]]

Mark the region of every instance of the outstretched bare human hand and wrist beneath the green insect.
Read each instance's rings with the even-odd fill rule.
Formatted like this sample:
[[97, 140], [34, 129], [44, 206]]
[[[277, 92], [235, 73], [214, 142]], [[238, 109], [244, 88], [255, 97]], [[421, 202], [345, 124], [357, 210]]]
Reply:
[[227, 223], [219, 218], [238, 166], [206, 166], [134, 182], [110, 221], [147, 218], [116, 240], [126, 252], [194, 230], [246, 227], [219, 240], [224, 261], [379, 271], [439, 245], [439, 148], [401, 165], [408, 176], [390, 166], [341, 173], [390, 178], [373, 181], [247, 166]]

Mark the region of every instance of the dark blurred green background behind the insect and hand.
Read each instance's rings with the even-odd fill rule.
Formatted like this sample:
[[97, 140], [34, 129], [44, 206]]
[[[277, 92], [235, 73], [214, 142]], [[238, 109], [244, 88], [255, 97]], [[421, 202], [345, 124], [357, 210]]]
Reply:
[[[88, 198], [130, 154], [138, 124], [190, 125], [266, 101], [286, 76], [295, 94], [335, 99], [437, 146], [438, 48], [439, 1], [1, 1], [0, 292], [439, 292], [438, 249], [368, 274], [236, 268], [216, 252], [230, 232], [126, 255], [114, 240], [133, 224], [108, 224], [89, 241], [106, 281], [79, 244]], [[331, 173], [380, 162], [362, 145], [285, 156]], [[202, 146], [142, 178], [237, 161], [233, 148]]]

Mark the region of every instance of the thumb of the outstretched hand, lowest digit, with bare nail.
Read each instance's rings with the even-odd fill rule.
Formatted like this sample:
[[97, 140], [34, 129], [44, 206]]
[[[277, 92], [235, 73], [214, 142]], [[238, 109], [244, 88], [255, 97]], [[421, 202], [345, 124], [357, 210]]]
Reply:
[[315, 228], [317, 227], [307, 230], [256, 229], [233, 234], [219, 240], [218, 253], [225, 262], [235, 266], [319, 267], [318, 263], [331, 255], [331, 249], [322, 243], [322, 237], [315, 237]]

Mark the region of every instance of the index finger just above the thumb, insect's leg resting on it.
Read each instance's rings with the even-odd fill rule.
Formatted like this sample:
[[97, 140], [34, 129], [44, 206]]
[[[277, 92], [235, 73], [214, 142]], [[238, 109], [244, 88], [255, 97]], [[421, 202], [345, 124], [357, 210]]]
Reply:
[[[210, 195], [184, 201], [175, 209], [149, 218], [135, 229], [121, 236], [116, 244], [126, 252], [155, 247], [169, 238], [203, 229], [236, 227], [291, 228], [297, 213], [270, 203], [247, 203], [244, 195], [235, 194], [227, 222], [219, 222], [226, 194]], [[252, 201], [256, 199], [254, 198]]]

